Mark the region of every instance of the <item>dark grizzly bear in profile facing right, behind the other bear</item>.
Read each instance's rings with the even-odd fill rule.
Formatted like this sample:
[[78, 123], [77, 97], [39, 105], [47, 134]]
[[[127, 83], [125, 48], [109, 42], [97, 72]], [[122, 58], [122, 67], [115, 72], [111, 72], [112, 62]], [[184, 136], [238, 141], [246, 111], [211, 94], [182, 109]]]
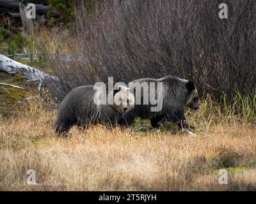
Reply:
[[[153, 89], [149, 91], [145, 89], [146, 91], [143, 90], [142, 94], [136, 94], [137, 91], [143, 89], [143, 86], [150, 87], [150, 84], [157, 83], [161, 84], [160, 90], [157, 85], [154, 85]], [[129, 82], [129, 88], [136, 99], [134, 108], [132, 108], [131, 112], [125, 114], [125, 119], [129, 125], [132, 124], [136, 117], [140, 117], [141, 119], [149, 119], [154, 128], [157, 128], [159, 122], [163, 122], [164, 119], [174, 122], [180, 128], [189, 128], [186, 123], [184, 110], [187, 107], [195, 110], [199, 108], [198, 92], [194, 82], [179, 77], [168, 75], [159, 79], [141, 78]], [[161, 98], [157, 102], [161, 104], [152, 104], [150, 100], [149, 103], [143, 104], [142, 101], [145, 98], [152, 98], [149, 96], [151, 92], [154, 92], [154, 97]], [[138, 99], [142, 102], [141, 104], [137, 103]], [[161, 109], [152, 111], [152, 108], [156, 108], [156, 106], [161, 107]]]

